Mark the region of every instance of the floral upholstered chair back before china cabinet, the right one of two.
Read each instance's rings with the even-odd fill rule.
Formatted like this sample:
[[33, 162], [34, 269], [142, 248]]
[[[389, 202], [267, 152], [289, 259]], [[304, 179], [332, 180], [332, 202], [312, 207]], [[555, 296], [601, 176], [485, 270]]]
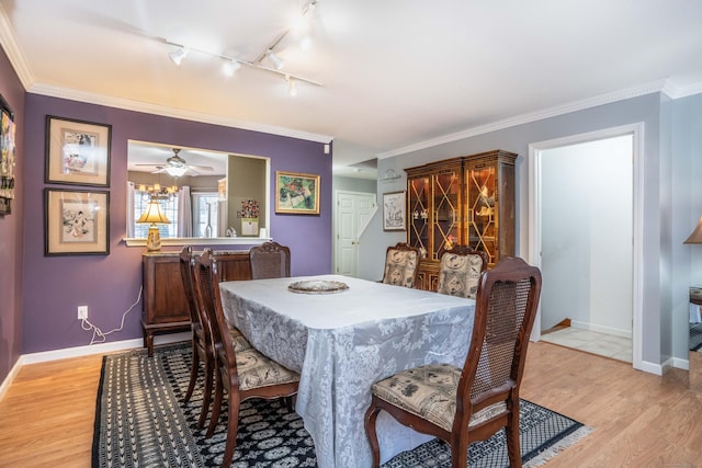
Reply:
[[437, 293], [475, 299], [480, 273], [487, 269], [487, 254], [469, 246], [441, 250]]

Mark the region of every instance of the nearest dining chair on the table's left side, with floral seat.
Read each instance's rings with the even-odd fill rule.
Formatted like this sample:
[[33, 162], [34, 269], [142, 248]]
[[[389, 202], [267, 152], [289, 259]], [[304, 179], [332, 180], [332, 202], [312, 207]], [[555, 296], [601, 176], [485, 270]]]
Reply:
[[278, 399], [297, 393], [299, 375], [256, 349], [237, 351], [228, 333], [228, 323], [222, 307], [218, 287], [217, 261], [206, 249], [195, 267], [195, 286], [203, 297], [204, 309], [211, 323], [215, 354], [215, 400], [206, 436], [212, 437], [219, 420], [224, 392], [229, 395], [227, 442], [223, 467], [228, 467], [234, 457], [239, 427], [239, 407], [249, 398]]

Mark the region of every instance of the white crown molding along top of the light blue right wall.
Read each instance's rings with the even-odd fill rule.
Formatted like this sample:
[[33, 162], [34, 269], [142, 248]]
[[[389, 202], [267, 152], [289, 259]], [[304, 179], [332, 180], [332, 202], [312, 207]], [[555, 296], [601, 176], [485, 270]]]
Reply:
[[694, 83], [684, 88], [675, 85], [668, 79], [661, 79], [653, 81], [650, 83], [642, 84], [639, 87], [630, 88], [625, 90], [614, 91], [611, 93], [600, 94], [593, 98], [588, 98], [581, 101], [571, 102], [568, 104], [545, 109], [529, 114], [517, 115], [514, 117], [497, 121], [486, 125], [479, 125], [477, 127], [468, 128], [465, 130], [456, 132], [449, 135], [443, 135], [437, 138], [418, 141], [412, 145], [408, 145], [401, 148], [393, 149], [377, 153], [377, 159], [392, 158], [394, 156], [407, 155], [408, 152], [419, 151], [422, 149], [431, 148], [439, 145], [444, 145], [453, 141], [457, 141], [465, 138], [475, 137], [478, 135], [487, 134], [490, 132], [501, 130], [505, 128], [513, 127], [517, 125], [529, 124], [536, 121], [542, 121], [548, 117], [555, 117], [570, 112], [582, 111], [599, 105], [611, 104], [618, 101], [624, 101], [632, 98], [638, 98], [646, 94], [663, 92], [671, 99], [680, 99], [692, 94], [702, 92], [702, 83]]

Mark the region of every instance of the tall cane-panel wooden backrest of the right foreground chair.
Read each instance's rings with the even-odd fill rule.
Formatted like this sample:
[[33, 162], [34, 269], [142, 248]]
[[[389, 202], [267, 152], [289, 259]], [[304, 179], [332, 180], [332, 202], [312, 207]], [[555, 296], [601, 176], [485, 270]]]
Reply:
[[[468, 354], [458, 381], [454, 431], [490, 404], [519, 408], [519, 386], [541, 294], [541, 272], [506, 258], [480, 276]], [[461, 425], [465, 424], [465, 425]]]

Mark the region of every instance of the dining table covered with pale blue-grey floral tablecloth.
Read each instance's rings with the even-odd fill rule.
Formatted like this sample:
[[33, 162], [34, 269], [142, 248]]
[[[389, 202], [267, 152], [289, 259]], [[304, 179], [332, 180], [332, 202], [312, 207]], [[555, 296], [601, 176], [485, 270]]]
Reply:
[[[370, 467], [371, 386], [424, 364], [462, 366], [475, 300], [316, 275], [219, 283], [226, 319], [261, 353], [299, 373], [295, 411], [321, 468]], [[381, 412], [381, 463], [431, 440]]]

